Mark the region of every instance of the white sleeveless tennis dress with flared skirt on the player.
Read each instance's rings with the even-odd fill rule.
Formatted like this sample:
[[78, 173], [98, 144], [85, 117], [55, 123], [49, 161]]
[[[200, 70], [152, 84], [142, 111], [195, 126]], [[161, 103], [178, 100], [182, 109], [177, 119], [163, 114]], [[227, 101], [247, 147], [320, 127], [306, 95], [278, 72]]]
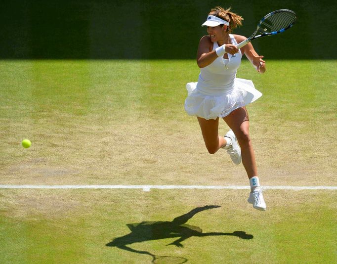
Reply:
[[[237, 45], [234, 36], [229, 36], [232, 44]], [[215, 42], [213, 50], [217, 47]], [[205, 119], [225, 117], [262, 96], [251, 80], [236, 78], [242, 58], [240, 49], [234, 55], [228, 54], [228, 58], [218, 57], [200, 69], [197, 83], [186, 85], [188, 97], [185, 100], [185, 110], [189, 115]]]

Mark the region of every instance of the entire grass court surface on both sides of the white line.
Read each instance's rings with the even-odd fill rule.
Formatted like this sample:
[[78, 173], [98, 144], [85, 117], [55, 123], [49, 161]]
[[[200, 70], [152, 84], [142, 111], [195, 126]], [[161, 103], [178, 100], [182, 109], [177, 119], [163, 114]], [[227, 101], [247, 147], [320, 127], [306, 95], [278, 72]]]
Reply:
[[[263, 185], [337, 185], [336, 61], [267, 60], [238, 77], [263, 96], [249, 105]], [[242, 166], [209, 155], [183, 109], [194, 60], [1, 61], [0, 184], [248, 185]], [[227, 131], [221, 123], [220, 133]], [[24, 149], [24, 138], [32, 146]], [[254, 211], [247, 191], [0, 190], [1, 263], [151, 263], [105, 244], [127, 223], [171, 221], [203, 232], [129, 245], [189, 263], [334, 263], [336, 191], [267, 190]], [[256, 252], [260, 252], [257, 254]]]

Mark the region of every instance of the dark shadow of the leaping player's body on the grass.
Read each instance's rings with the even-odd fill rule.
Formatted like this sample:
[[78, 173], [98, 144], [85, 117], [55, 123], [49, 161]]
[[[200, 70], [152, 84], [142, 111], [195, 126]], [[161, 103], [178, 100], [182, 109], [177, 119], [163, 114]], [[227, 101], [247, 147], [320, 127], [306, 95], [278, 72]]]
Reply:
[[[133, 243], [139, 243], [149, 240], [165, 239], [177, 237], [175, 241], [168, 245], [175, 245], [177, 247], [183, 247], [182, 241], [189, 237], [205, 237], [205, 236], [236, 236], [241, 239], [252, 239], [253, 235], [246, 234], [244, 231], [234, 231], [233, 233], [224, 232], [207, 232], [203, 233], [203, 230], [198, 226], [193, 226], [186, 224], [186, 222], [191, 219], [195, 214], [202, 212], [204, 210], [218, 208], [217, 205], [207, 205], [204, 207], [197, 207], [192, 211], [179, 216], [172, 221], [143, 221], [140, 223], [129, 223], [126, 224], [130, 229], [130, 233], [125, 236], [117, 237], [106, 246], [117, 247], [123, 250], [127, 250], [139, 254], [147, 254], [152, 257], [155, 255], [147, 251], [139, 251], [132, 249], [126, 245]], [[187, 261], [187, 260], [186, 260]]]

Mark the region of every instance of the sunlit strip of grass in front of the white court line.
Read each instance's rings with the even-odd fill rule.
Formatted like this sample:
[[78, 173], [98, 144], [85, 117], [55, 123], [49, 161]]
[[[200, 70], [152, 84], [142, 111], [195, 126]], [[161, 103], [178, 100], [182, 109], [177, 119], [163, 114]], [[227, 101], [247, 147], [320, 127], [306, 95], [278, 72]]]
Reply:
[[[244, 190], [1, 192], [0, 236], [5, 242], [0, 248], [1, 263], [151, 263], [150, 255], [140, 253], [144, 251], [185, 258], [189, 263], [337, 260], [334, 191], [311, 191], [308, 195], [307, 191], [269, 190], [265, 192], [269, 201], [265, 213], [253, 210], [245, 202]], [[174, 231], [177, 229], [171, 229], [171, 234], [175, 232], [177, 237], [169, 238], [162, 230], [147, 228], [142, 237], [134, 232], [129, 240], [119, 242], [121, 247], [126, 243], [128, 249], [106, 246], [131, 233], [128, 223], [172, 221], [208, 204], [221, 208], [194, 215], [186, 226], [199, 227], [203, 233], [225, 235], [192, 235], [181, 242], [183, 247], [176, 247], [168, 244], [179, 238], [179, 232]], [[228, 235], [235, 231], [246, 232], [253, 238]], [[151, 239], [156, 236], [157, 239]]]

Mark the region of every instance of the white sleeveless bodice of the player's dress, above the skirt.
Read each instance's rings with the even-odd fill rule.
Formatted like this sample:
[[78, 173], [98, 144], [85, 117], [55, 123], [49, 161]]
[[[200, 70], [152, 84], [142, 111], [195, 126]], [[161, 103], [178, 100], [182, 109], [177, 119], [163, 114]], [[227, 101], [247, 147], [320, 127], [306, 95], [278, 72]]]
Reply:
[[[237, 45], [233, 35], [229, 34], [232, 44]], [[213, 50], [218, 44], [213, 43]], [[220, 95], [234, 89], [237, 69], [241, 64], [242, 53], [231, 55], [228, 59], [223, 56], [217, 57], [210, 65], [201, 68], [198, 78], [197, 89], [207, 95]]]

